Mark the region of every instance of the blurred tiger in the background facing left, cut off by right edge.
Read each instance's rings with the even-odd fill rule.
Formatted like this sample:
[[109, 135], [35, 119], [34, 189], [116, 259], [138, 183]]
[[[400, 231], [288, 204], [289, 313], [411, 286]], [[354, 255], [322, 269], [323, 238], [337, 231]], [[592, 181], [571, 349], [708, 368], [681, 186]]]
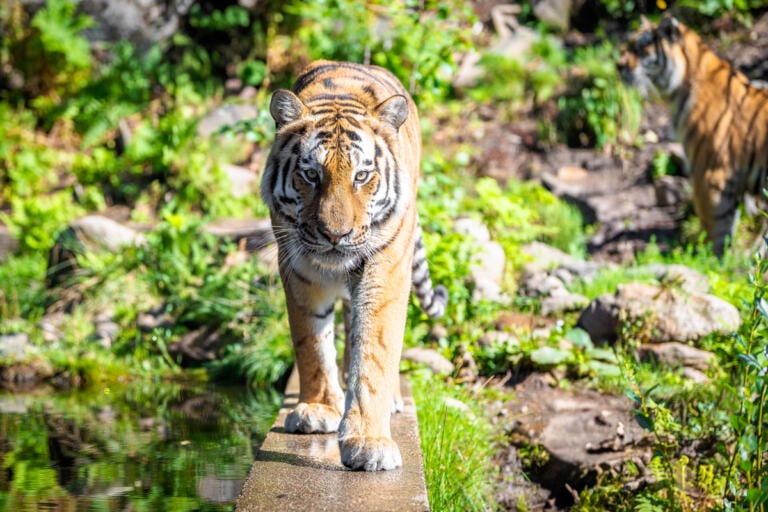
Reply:
[[671, 106], [693, 181], [694, 208], [722, 256], [738, 205], [759, 195], [768, 170], [768, 91], [712, 52], [671, 16], [643, 19], [618, 61], [622, 79]]

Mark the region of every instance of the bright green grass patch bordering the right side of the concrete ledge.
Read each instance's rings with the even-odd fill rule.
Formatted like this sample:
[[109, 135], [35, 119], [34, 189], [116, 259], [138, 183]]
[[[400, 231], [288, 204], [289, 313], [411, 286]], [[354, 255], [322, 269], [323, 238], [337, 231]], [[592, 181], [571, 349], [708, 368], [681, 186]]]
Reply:
[[432, 510], [494, 508], [490, 458], [494, 433], [465, 389], [429, 372], [410, 374], [416, 400], [427, 494]]

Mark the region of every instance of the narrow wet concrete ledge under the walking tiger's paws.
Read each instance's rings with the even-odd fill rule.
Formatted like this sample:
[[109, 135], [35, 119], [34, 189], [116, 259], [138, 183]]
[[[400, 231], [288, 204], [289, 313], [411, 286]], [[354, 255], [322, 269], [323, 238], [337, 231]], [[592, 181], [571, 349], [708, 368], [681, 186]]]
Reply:
[[408, 381], [400, 381], [405, 409], [392, 417], [392, 435], [403, 467], [367, 473], [341, 464], [336, 434], [285, 432], [285, 416], [298, 397], [294, 370], [283, 408], [256, 455], [235, 510], [428, 511], [416, 406]]

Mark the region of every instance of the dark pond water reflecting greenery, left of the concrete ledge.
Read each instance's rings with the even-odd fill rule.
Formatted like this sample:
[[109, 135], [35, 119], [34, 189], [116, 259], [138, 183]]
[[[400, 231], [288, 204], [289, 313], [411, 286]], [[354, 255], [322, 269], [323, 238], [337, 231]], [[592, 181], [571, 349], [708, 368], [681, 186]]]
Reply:
[[229, 511], [275, 392], [131, 384], [0, 394], [0, 511]]

